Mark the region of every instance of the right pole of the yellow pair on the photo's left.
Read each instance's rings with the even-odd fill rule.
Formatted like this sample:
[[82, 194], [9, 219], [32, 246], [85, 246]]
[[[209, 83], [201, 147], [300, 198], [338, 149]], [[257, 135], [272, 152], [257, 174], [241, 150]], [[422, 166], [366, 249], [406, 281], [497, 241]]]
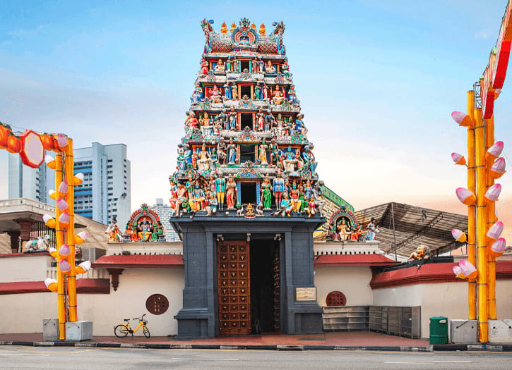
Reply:
[[75, 185], [74, 185], [74, 161], [73, 161], [73, 139], [68, 138], [68, 146], [64, 150], [66, 163], [66, 182], [68, 183], [67, 201], [69, 204], [69, 224], [66, 228], [66, 240], [69, 245], [69, 266], [71, 270], [68, 275], [68, 312], [69, 321], [77, 321], [76, 309], [76, 266], [75, 266]]

